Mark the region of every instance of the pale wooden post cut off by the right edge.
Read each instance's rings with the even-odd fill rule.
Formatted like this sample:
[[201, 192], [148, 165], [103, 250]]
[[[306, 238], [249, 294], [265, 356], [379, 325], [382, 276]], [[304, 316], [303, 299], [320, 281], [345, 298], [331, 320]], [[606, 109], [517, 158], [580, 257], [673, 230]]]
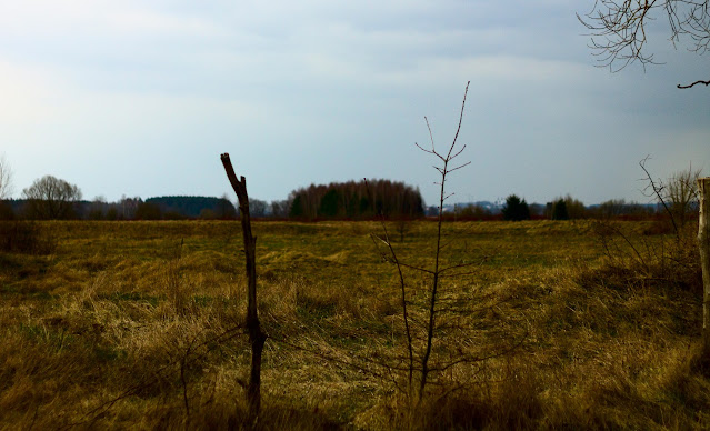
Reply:
[[698, 247], [702, 267], [702, 345], [703, 358], [710, 358], [710, 177], [698, 179], [700, 220]]

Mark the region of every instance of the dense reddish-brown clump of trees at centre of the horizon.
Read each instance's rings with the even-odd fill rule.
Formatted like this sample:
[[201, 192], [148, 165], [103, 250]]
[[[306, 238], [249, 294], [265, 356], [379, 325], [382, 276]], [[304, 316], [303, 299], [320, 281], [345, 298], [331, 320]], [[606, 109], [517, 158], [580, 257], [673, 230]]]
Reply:
[[289, 202], [289, 218], [300, 220], [420, 218], [424, 214], [419, 189], [390, 180], [311, 184], [292, 191]]

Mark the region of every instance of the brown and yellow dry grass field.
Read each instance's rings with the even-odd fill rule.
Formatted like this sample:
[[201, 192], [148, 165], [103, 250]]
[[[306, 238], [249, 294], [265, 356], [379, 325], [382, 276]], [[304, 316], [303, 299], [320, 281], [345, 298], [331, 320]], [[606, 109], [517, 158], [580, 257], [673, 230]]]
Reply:
[[[446, 261], [471, 265], [442, 281], [433, 354], [467, 360], [412, 410], [382, 227], [257, 222], [257, 427], [710, 429], [692, 228], [679, 244], [654, 222], [444, 223]], [[33, 229], [49, 253], [0, 252], [0, 429], [249, 428], [239, 222]], [[434, 234], [411, 222], [398, 257], [430, 265]], [[417, 320], [429, 280], [404, 275]]]

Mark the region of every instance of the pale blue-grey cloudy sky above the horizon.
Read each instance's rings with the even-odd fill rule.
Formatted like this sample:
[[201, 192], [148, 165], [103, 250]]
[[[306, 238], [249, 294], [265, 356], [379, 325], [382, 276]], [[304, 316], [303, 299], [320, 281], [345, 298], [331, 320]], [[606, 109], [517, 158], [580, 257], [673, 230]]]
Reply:
[[584, 203], [656, 177], [710, 174], [710, 57], [596, 68], [576, 12], [592, 0], [0, 0], [0, 153], [14, 196], [44, 174], [86, 199], [231, 193], [229, 152], [250, 196], [387, 178], [434, 203], [437, 148], [451, 143], [454, 201], [510, 193]]

